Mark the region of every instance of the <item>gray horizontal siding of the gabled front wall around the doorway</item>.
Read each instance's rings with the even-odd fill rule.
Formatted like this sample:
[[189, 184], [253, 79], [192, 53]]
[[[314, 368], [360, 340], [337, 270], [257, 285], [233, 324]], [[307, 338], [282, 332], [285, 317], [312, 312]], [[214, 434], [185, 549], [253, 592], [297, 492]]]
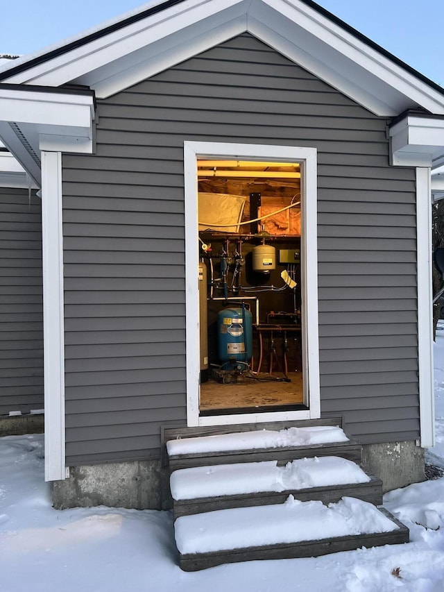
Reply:
[[99, 101], [64, 155], [67, 462], [158, 454], [185, 423], [184, 140], [318, 151], [321, 405], [418, 437], [416, 205], [386, 123], [249, 35]]

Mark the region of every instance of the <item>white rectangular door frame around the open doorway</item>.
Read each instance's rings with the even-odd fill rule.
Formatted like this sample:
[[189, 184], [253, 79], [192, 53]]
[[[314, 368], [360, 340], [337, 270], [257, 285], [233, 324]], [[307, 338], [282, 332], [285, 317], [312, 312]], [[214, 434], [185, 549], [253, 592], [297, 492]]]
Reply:
[[[299, 162], [302, 181], [301, 273], [302, 350], [307, 409], [288, 412], [199, 416], [200, 338], [198, 294], [198, 182], [197, 158]], [[187, 333], [187, 425], [226, 425], [321, 416], [318, 337], [317, 155], [314, 148], [184, 142], [185, 175], [185, 273]]]

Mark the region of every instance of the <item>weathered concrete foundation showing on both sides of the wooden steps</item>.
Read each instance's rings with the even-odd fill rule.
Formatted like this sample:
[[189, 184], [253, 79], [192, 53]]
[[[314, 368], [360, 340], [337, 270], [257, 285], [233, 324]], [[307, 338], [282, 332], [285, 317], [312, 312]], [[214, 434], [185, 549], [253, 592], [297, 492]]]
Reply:
[[[362, 465], [384, 482], [384, 491], [425, 480], [424, 450], [414, 442], [367, 444]], [[170, 509], [169, 471], [160, 459], [76, 466], [53, 484], [56, 509], [105, 505]]]

